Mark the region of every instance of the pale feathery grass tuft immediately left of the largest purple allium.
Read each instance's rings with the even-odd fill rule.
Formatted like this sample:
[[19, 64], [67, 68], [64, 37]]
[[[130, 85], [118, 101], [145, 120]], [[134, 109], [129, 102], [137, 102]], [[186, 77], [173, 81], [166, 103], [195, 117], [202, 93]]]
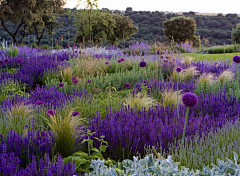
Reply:
[[181, 94], [182, 90], [174, 91], [173, 89], [165, 89], [162, 93], [162, 105], [164, 108], [166, 107], [177, 107], [181, 102]]

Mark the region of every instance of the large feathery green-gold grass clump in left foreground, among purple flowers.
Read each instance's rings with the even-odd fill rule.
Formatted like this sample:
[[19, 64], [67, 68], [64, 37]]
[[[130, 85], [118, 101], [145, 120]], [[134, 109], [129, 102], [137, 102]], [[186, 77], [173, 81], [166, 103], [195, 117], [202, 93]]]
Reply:
[[60, 114], [54, 110], [48, 110], [45, 121], [49, 129], [53, 132], [55, 140], [55, 151], [63, 157], [67, 157], [74, 152], [74, 146], [80, 131], [77, 130], [82, 124], [82, 119], [75, 111], [65, 111]]

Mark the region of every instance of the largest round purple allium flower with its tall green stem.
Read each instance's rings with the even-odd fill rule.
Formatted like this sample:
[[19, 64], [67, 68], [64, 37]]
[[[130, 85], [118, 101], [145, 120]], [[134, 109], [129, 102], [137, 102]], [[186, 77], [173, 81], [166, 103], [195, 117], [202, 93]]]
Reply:
[[188, 122], [189, 108], [192, 108], [198, 104], [198, 97], [194, 93], [188, 92], [183, 95], [182, 102], [185, 106], [187, 106], [185, 124], [184, 124], [183, 135], [182, 135], [182, 140], [184, 140], [185, 132], [187, 128], [187, 122]]

